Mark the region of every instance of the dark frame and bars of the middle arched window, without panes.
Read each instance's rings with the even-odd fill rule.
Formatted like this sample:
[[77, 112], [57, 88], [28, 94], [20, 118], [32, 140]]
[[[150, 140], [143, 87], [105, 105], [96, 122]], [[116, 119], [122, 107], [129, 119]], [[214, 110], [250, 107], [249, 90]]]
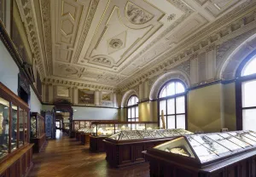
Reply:
[[[163, 97], [163, 98], [160, 98], [160, 94], [161, 94], [161, 91], [164, 87], [166, 87], [166, 85], [168, 85], [169, 83], [182, 83], [183, 84], [183, 87], [185, 89], [185, 91], [183, 93], [179, 93], [179, 94], [173, 94], [173, 95], [170, 95], [170, 96], [166, 96], [166, 97]], [[175, 128], [177, 128], [177, 116], [179, 115], [185, 115], [185, 129], [188, 129], [188, 106], [187, 106], [187, 103], [188, 103], [188, 88], [186, 87], [185, 83], [183, 83], [182, 80], [179, 80], [179, 79], [171, 79], [169, 81], [167, 81], [166, 83], [164, 83], [161, 87], [160, 87], [160, 90], [159, 90], [159, 93], [157, 95], [157, 112], [158, 112], [158, 127], [160, 127], [160, 101], [161, 100], [166, 100], [166, 128], [167, 128], [167, 125], [168, 125], [168, 122], [167, 122], [167, 117], [168, 116], [175, 116]], [[177, 112], [177, 107], [176, 107], [176, 100], [178, 97], [181, 97], [181, 96], [184, 96], [184, 101], [185, 101], [185, 113], [176, 113]], [[175, 113], [174, 114], [167, 114], [167, 109], [168, 109], [168, 106], [167, 106], [167, 101], [170, 100], [170, 99], [174, 99], [174, 110], [175, 110]]]

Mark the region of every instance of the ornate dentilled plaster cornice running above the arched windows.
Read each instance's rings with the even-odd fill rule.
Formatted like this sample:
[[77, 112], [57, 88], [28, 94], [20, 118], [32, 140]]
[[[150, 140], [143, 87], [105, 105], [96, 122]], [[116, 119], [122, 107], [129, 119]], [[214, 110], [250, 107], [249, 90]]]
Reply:
[[[247, 3], [247, 5], [251, 3], [252, 1], [250, 1], [250, 3]], [[255, 2], [253, 2], [253, 4], [256, 5]], [[241, 11], [248, 10], [249, 8], [252, 7], [252, 6], [247, 7], [247, 5], [242, 4], [240, 7], [238, 7], [235, 10], [235, 12], [241, 13]], [[245, 7], [247, 8], [243, 9]], [[226, 14], [224, 18], [228, 20], [230, 20], [230, 16], [232, 16], [232, 18], [235, 18], [236, 13], [232, 12], [232, 13]], [[240, 17], [238, 20], [236, 18], [236, 20], [230, 21], [231, 25], [228, 24], [226, 26], [223, 26], [223, 23], [226, 23], [227, 21], [223, 18], [220, 18], [219, 20], [216, 21], [217, 24], [215, 22], [212, 23], [211, 26], [207, 27], [206, 29], [203, 29], [202, 31], [199, 31], [198, 33], [195, 34], [195, 36], [190, 37], [188, 40], [186, 40], [176, 49], [173, 49], [170, 52], [167, 52], [166, 54], [161, 55], [160, 58], [152, 62], [150, 66], [143, 68], [143, 71], [140, 71], [139, 73], [135, 72], [134, 75], [137, 75], [137, 77], [135, 78], [133, 77], [134, 78], [133, 80], [131, 80], [131, 77], [130, 77], [130, 79], [128, 78], [124, 82], [119, 83], [118, 87], [120, 88], [120, 90], [125, 90], [127, 88], [130, 88], [131, 85], [136, 85], [137, 83], [142, 81], [144, 78], [147, 78], [153, 75], [155, 72], [166, 70], [166, 68], [167, 67], [170, 68], [170, 66], [172, 68], [175, 67], [176, 63], [180, 63], [181, 60], [187, 60], [187, 57], [192, 57], [192, 59], [197, 57], [196, 54], [198, 54], [198, 52], [201, 51], [202, 49], [204, 50], [214, 49], [215, 48], [214, 46], [216, 45], [215, 43], [220, 43], [223, 40], [229, 40], [230, 38], [234, 37], [233, 33], [236, 34], [237, 31], [241, 31], [241, 33], [244, 33], [244, 31], [248, 31], [249, 30], [248, 26], [254, 26], [255, 18], [252, 18], [252, 16], [255, 16], [255, 13], [256, 12], [254, 12], [253, 14], [249, 14], [249, 13], [244, 14], [244, 16]], [[250, 20], [247, 22], [247, 24], [245, 24], [245, 21], [246, 21], [245, 19], [253, 19], [253, 20]], [[218, 31], [216, 31], [216, 29], [213, 30], [213, 28], [217, 27], [218, 24], [221, 25], [222, 27], [218, 28]], [[240, 26], [234, 28], [233, 25], [235, 26], [236, 24], [239, 24]], [[225, 35], [219, 35], [221, 31], [228, 31], [228, 32], [224, 33]], [[205, 37], [201, 37], [202, 34], [204, 34]], [[196, 40], [196, 37], [199, 37], [200, 40]], [[207, 45], [202, 47], [201, 43], [205, 41], [207, 41]], [[199, 46], [199, 47], [197, 48], [195, 46]], [[177, 53], [177, 51], [179, 52]], [[188, 53], [187, 51], [192, 51], [192, 52]], [[180, 56], [183, 56], [183, 58], [181, 58]]]

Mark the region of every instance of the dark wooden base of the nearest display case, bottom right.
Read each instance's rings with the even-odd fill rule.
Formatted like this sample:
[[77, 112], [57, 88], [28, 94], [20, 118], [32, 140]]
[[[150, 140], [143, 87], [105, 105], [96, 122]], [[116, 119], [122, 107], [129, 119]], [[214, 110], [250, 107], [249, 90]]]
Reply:
[[256, 177], [256, 151], [230, 157], [206, 167], [196, 168], [178, 163], [173, 158], [167, 158], [150, 151], [143, 151], [150, 164], [150, 176], [162, 177]]

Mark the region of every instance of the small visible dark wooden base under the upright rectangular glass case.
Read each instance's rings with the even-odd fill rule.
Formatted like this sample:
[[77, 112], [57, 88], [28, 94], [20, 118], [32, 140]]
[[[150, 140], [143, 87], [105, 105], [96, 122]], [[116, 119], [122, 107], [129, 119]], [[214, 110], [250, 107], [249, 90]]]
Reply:
[[106, 151], [105, 140], [107, 137], [90, 136], [90, 151], [102, 152]]

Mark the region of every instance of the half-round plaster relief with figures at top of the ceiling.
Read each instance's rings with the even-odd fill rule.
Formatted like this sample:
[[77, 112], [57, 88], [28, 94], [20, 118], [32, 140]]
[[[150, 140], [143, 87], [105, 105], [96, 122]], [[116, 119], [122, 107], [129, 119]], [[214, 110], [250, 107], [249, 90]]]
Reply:
[[125, 8], [127, 19], [136, 25], [141, 25], [152, 20], [154, 15], [149, 14], [146, 10], [139, 8], [134, 3], [128, 2]]

